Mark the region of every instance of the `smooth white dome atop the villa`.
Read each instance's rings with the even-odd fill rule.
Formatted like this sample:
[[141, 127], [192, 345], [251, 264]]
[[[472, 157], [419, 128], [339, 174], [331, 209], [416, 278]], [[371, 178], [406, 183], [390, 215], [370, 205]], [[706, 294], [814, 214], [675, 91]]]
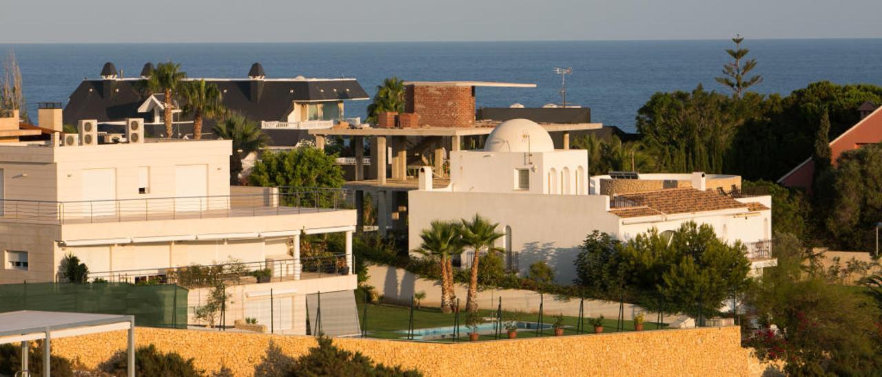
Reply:
[[527, 119], [502, 122], [484, 144], [487, 152], [551, 152], [554, 143], [548, 131]]

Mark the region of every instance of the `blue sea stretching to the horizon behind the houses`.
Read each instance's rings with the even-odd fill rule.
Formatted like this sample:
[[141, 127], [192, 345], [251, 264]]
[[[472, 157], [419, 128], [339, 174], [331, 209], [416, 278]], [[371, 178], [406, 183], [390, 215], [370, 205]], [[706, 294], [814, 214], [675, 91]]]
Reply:
[[[358, 78], [373, 95], [383, 78], [486, 80], [534, 83], [536, 88], [478, 88], [479, 107], [519, 102], [539, 107], [560, 102], [561, 78], [554, 67], [572, 67], [567, 101], [591, 107], [594, 122], [634, 129], [637, 110], [654, 92], [691, 90], [714, 81], [729, 61], [730, 41], [531, 41], [396, 43], [237, 44], [0, 44], [14, 50], [28, 108], [62, 101], [83, 78], [96, 78], [105, 62], [125, 77], [147, 61], [182, 63], [191, 77], [242, 78], [250, 64], [267, 77]], [[746, 41], [755, 70], [765, 81], [757, 92], [789, 93], [812, 81], [882, 85], [882, 39]], [[350, 102], [348, 116], [364, 116], [369, 101]]]

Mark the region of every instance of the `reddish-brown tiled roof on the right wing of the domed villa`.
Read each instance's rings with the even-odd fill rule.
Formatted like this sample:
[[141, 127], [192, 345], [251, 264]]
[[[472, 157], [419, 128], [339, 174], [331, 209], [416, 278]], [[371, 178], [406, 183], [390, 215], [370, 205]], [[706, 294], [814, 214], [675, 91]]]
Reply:
[[[704, 211], [720, 211], [736, 208], [749, 209], [750, 205], [741, 203], [729, 196], [721, 196], [714, 191], [700, 191], [695, 188], [668, 188], [657, 191], [645, 191], [617, 196], [631, 201], [632, 207], [619, 207], [610, 212], [621, 211], [623, 216], [639, 217], [650, 216], [649, 211], [636, 211], [646, 208], [655, 211], [654, 214], [692, 213]], [[624, 211], [630, 210], [630, 211]], [[642, 214], [647, 213], [647, 214]], [[618, 216], [618, 215], [617, 215]]]

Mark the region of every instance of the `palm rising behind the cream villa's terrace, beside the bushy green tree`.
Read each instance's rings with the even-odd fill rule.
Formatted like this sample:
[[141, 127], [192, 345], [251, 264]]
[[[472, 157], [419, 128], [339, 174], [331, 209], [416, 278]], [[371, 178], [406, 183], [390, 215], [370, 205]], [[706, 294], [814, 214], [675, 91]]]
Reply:
[[212, 130], [219, 138], [233, 141], [233, 154], [229, 156], [229, 181], [230, 184], [238, 184], [239, 173], [242, 173], [242, 159], [265, 147], [269, 137], [257, 122], [238, 114], [227, 115]]

